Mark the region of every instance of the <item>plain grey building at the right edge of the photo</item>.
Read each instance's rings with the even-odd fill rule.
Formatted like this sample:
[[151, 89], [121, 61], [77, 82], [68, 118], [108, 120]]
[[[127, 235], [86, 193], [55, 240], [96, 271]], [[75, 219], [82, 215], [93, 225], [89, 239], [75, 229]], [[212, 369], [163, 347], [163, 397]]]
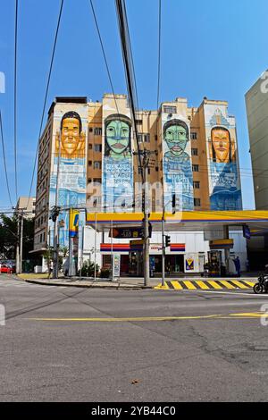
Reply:
[[247, 91], [247, 125], [256, 210], [268, 209], [268, 89], [267, 76]]

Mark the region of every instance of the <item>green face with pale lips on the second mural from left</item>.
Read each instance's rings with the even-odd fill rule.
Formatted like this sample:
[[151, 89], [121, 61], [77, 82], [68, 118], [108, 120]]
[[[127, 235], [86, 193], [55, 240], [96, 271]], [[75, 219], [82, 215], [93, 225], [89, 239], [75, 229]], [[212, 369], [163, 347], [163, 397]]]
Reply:
[[113, 154], [121, 155], [130, 145], [130, 125], [113, 120], [106, 125], [106, 142]]

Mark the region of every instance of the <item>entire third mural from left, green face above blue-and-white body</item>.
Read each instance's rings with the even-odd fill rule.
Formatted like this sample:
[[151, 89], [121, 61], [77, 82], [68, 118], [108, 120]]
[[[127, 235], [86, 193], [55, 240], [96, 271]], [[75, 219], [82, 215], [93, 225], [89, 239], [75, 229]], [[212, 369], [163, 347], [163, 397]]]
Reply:
[[163, 188], [166, 209], [172, 209], [172, 195], [177, 197], [176, 210], [193, 210], [193, 173], [188, 124], [179, 118], [169, 120], [163, 114]]

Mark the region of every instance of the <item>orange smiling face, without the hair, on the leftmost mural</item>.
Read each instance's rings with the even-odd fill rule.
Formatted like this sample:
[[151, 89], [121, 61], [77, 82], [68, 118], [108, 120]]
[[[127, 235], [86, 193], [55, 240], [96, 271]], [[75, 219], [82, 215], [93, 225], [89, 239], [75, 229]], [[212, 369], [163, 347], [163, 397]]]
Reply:
[[62, 148], [66, 155], [75, 154], [80, 142], [80, 122], [77, 118], [65, 118], [62, 128]]

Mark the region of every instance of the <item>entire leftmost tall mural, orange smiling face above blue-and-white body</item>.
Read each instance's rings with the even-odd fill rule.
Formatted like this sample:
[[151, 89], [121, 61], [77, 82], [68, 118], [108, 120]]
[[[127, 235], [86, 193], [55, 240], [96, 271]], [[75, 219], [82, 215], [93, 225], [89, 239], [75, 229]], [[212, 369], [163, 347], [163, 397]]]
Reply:
[[[54, 118], [59, 124], [55, 131], [54, 161], [50, 176], [49, 202], [53, 206], [76, 208], [86, 203], [86, 133], [82, 130], [82, 121], [87, 119], [87, 107], [77, 106], [76, 111], [68, 111], [61, 105], [55, 107]], [[63, 116], [62, 116], [63, 115]], [[56, 188], [58, 185], [58, 189]], [[61, 246], [69, 245], [69, 212], [63, 211], [59, 217], [63, 228], [59, 230]], [[51, 225], [51, 231], [54, 226]]]

